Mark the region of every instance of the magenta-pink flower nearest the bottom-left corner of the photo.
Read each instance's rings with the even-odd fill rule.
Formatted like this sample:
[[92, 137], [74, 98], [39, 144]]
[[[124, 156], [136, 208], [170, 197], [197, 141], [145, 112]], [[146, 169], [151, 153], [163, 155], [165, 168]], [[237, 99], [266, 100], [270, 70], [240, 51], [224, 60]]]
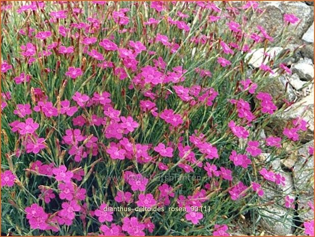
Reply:
[[29, 220], [32, 229], [48, 229], [49, 225], [46, 223], [48, 214], [45, 213], [43, 207], [34, 203], [25, 208], [26, 218]]

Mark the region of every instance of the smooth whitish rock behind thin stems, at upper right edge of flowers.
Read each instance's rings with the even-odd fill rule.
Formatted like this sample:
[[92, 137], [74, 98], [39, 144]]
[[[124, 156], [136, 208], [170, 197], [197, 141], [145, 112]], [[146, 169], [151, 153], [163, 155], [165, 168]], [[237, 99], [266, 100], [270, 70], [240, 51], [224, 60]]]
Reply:
[[273, 59], [282, 50], [283, 48], [281, 47], [269, 47], [266, 48], [266, 51], [264, 48], [258, 48], [247, 54], [245, 56], [245, 60], [249, 59], [248, 64], [252, 65], [255, 68], [258, 68], [262, 63], [267, 64], [267, 62], [269, 61], [269, 57], [266, 57], [264, 55], [264, 52], [270, 54], [271, 55], [270, 59]]

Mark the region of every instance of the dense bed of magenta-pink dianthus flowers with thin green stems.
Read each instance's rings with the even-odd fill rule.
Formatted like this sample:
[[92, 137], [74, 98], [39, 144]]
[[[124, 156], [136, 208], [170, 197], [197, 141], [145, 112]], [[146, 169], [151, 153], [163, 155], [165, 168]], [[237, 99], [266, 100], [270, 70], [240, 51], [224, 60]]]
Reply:
[[[265, 191], [308, 124], [260, 136], [292, 102], [263, 90], [292, 52], [249, 75], [252, 50], [288, 42], [249, 13], [258, 3], [2, 3], [2, 232], [222, 236], [247, 216], [259, 234], [261, 208], [294, 213]], [[313, 235], [313, 220], [294, 228]]]

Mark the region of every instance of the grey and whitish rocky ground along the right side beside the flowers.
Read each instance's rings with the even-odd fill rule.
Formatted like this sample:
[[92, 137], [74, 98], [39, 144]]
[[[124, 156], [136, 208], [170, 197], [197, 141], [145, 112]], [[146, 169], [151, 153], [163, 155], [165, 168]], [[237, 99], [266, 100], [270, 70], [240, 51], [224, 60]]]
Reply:
[[[268, 48], [268, 52], [272, 57], [290, 50], [292, 57], [285, 62], [292, 70], [291, 75], [279, 75], [277, 68], [273, 68], [275, 74], [274, 83], [267, 85], [265, 90], [272, 94], [274, 98], [285, 97], [287, 101], [294, 101], [275, 120], [274, 126], [265, 130], [266, 135], [277, 135], [281, 133], [283, 126], [288, 121], [296, 117], [303, 117], [308, 121], [309, 127], [305, 135], [302, 137], [303, 145], [297, 154], [291, 154], [288, 148], [287, 158], [280, 162], [273, 162], [274, 169], [283, 172], [286, 178], [286, 186], [283, 190], [277, 190], [270, 187], [266, 191], [266, 196], [270, 201], [277, 199], [277, 192], [296, 193], [293, 197], [297, 204], [293, 215], [283, 208], [283, 206], [275, 208], [261, 208], [262, 217], [257, 223], [253, 223], [253, 218], [244, 217], [238, 224], [240, 228], [233, 235], [250, 235], [253, 225], [257, 226], [260, 235], [293, 235], [296, 234], [296, 227], [301, 223], [300, 220], [311, 220], [314, 218], [313, 211], [309, 211], [308, 202], [313, 203], [314, 199], [314, 181], [313, 168], [314, 157], [308, 155], [308, 147], [314, 144], [314, 11], [313, 2], [262, 2], [261, 8], [265, 14], [255, 19], [256, 24], [263, 25], [268, 32], [272, 32], [273, 37], [281, 32], [283, 25], [283, 14], [295, 14], [301, 19], [297, 27], [290, 28], [292, 41], [288, 42], [285, 47]], [[264, 48], [252, 52], [249, 63], [253, 68], [258, 68], [264, 61]], [[250, 75], [250, 71], [248, 74]], [[277, 106], [280, 108], [285, 101], [279, 102]], [[265, 135], [262, 135], [265, 136]], [[265, 153], [261, 158], [268, 160], [269, 154]], [[301, 192], [303, 190], [303, 192]], [[273, 222], [264, 220], [263, 215], [273, 218]]]

